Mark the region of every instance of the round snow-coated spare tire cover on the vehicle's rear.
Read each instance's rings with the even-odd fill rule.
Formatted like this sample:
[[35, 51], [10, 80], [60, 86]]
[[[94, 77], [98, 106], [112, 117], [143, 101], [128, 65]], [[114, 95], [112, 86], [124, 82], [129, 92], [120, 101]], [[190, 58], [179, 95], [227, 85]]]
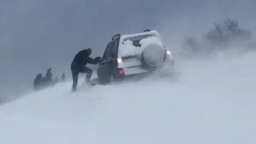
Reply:
[[153, 68], [162, 64], [165, 59], [165, 49], [158, 44], [147, 45], [141, 54], [141, 63], [143, 67]]

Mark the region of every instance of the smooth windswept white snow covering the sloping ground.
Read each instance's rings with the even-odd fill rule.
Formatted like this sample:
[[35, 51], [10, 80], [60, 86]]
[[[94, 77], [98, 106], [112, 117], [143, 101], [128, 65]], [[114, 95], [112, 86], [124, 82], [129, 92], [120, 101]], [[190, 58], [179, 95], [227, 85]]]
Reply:
[[0, 107], [1, 143], [256, 143], [256, 54], [183, 63], [169, 79], [71, 82]]

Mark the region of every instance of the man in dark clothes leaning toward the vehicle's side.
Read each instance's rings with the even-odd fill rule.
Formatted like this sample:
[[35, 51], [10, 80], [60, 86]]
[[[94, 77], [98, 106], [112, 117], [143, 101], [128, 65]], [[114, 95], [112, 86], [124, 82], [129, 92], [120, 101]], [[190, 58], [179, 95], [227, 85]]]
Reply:
[[92, 50], [90, 48], [86, 50], [79, 51], [73, 62], [71, 63], [71, 72], [73, 77], [73, 86], [72, 91], [76, 91], [77, 87], [77, 81], [78, 81], [78, 74], [79, 73], [86, 73], [85, 81], [90, 82], [91, 76], [92, 76], [92, 69], [85, 67], [87, 63], [90, 63], [92, 65], [96, 65], [99, 62], [99, 57], [92, 59], [89, 57], [92, 53]]

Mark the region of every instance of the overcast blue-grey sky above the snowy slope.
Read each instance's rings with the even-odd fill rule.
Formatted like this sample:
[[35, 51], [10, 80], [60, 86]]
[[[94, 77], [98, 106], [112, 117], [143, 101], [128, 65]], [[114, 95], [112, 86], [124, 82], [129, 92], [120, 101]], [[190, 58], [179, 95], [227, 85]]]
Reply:
[[255, 13], [255, 0], [1, 0], [0, 98], [31, 89], [49, 67], [70, 77], [77, 51], [90, 46], [93, 57], [101, 56], [128, 27], [157, 29], [177, 48], [184, 35], [199, 37], [227, 15], [254, 30]]

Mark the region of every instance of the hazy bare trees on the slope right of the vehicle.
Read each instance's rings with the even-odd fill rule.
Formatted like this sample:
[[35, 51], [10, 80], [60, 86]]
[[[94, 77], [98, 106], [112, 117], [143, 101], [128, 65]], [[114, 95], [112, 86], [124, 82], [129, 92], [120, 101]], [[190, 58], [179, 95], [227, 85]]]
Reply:
[[[222, 22], [214, 22], [213, 28], [210, 29], [205, 35], [203, 35], [203, 43], [200, 44], [193, 37], [185, 37], [185, 41], [182, 45], [183, 53], [188, 55], [211, 55], [221, 50], [232, 49], [247, 49], [246, 41], [252, 39], [250, 30], [240, 28], [238, 20], [227, 19]], [[243, 46], [236, 46], [236, 45]], [[235, 46], [234, 46], [235, 45]], [[190, 56], [189, 56], [190, 57]], [[193, 56], [194, 57], [194, 56]]]

